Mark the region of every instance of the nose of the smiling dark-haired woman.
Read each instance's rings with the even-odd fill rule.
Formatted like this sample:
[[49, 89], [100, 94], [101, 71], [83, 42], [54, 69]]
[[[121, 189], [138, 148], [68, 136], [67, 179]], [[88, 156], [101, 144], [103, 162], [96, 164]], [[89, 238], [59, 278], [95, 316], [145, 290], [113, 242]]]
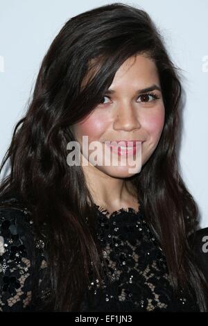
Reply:
[[119, 105], [114, 119], [114, 130], [132, 131], [141, 128], [137, 110], [132, 103]]

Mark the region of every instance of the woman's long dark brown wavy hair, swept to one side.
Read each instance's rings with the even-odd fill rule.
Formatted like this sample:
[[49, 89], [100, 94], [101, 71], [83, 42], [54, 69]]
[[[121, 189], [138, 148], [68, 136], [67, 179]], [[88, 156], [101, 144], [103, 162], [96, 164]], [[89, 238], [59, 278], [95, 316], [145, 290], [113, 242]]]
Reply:
[[100, 103], [122, 63], [141, 53], [157, 66], [165, 121], [157, 148], [131, 177], [132, 186], [166, 255], [174, 291], [179, 285], [191, 286], [200, 311], [207, 309], [205, 277], [188, 241], [196, 231], [198, 207], [177, 165], [180, 69], [144, 10], [112, 3], [72, 17], [55, 37], [0, 169], [10, 159], [11, 171], [1, 182], [0, 194], [16, 191], [21, 196], [40, 237], [42, 225], [48, 225], [47, 263], [55, 311], [77, 310], [89, 274], [101, 280], [102, 273], [90, 209], [94, 202], [82, 167], [67, 165], [67, 144], [76, 140], [70, 126]]

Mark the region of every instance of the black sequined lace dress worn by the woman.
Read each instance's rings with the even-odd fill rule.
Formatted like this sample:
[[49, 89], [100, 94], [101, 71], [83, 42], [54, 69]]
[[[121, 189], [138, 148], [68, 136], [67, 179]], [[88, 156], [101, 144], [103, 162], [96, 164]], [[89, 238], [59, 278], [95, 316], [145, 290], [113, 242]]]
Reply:
[[[196, 298], [185, 290], [173, 294], [166, 259], [141, 204], [138, 212], [128, 208], [109, 214], [95, 208], [107, 272], [102, 284], [92, 279], [79, 311], [199, 311]], [[38, 311], [37, 302], [50, 295], [43, 282], [44, 249], [26, 207], [0, 207], [0, 311]], [[34, 280], [41, 298], [34, 294]]]

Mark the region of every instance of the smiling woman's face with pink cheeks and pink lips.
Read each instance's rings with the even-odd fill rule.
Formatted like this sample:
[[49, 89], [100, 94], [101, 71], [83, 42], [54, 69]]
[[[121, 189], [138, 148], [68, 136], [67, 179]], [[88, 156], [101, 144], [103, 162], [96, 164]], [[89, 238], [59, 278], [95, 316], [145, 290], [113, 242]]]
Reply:
[[[151, 87], [149, 92], [144, 90], [149, 87]], [[139, 143], [141, 146], [139, 157], [143, 166], [155, 151], [164, 126], [164, 102], [160, 87], [157, 67], [153, 60], [145, 55], [137, 55], [136, 58], [132, 57], [123, 62], [101, 103], [87, 118], [71, 128], [80, 144], [83, 162], [89, 164], [91, 169], [98, 169], [114, 178], [127, 178], [132, 175], [130, 174], [132, 166], [128, 164], [127, 157], [135, 157], [135, 154], [130, 152], [126, 154], [125, 151], [121, 151], [121, 155], [111, 153], [112, 157], [114, 155], [118, 157], [118, 162], [125, 156], [126, 164], [114, 166], [111, 160], [111, 164], [106, 165], [105, 142], [134, 140], [142, 141]], [[90, 159], [90, 154], [94, 150], [89, 150], [88, 156], [83, 153], [83, 136], [87, 136], [88, 146], [92, 141], [101, 143], [101, 148], [96, 152], [98, 165], [92, 164]]]

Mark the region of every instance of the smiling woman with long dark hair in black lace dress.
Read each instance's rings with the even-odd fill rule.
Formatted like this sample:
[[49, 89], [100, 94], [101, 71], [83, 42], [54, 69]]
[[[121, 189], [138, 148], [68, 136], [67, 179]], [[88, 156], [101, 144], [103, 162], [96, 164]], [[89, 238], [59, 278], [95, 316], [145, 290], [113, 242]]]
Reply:
[[[197, 205], [177, 169], [180, 96], [143, 10], [112, 3], [63, 26], [1, 166], [2, 311], [207, 311]], [[133, 171], [112, 164], [135, 155]]]

